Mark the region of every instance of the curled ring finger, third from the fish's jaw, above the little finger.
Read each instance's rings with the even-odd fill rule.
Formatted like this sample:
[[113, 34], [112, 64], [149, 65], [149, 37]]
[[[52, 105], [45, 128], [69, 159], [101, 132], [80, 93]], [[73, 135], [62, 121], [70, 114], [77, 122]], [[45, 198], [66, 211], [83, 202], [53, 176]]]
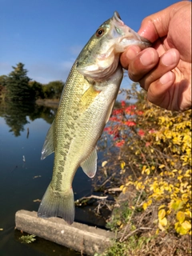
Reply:
[[154, 69], [149, 72], [149, 74], [138, 81], [140, 86], [142, 86], [143, 89], [148, 90], [151, 83], [158, 80], [164, 74], [170, 70], [173, 70], [178, 65], [179, 56], [178, 50], [167, 50], [166, 53], [161, 56], [158, 65], [155, 66]]

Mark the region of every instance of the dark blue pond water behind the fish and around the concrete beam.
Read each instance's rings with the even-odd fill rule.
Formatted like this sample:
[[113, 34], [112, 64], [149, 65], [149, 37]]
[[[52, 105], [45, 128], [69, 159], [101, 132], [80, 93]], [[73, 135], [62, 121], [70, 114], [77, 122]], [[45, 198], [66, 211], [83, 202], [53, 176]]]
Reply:
[[[77, 255], [77, 252], [37, 238], [22, 244], [14, 230], [18, 210], [38, 210], [38, 199], [52, 177], [54, 154], [41, 161], [42, 145], [57, 108], [0, 105], [0, 255]], [[101, 154], [98, 154], [101, 158]], [[89, 196], [91, 179], [79, 168], [73, 182], [75, 199]], [[94, 225], [90, 210], [77, 208], [75, 221]], [[103, 222], [101, 220], [101, 226]]]

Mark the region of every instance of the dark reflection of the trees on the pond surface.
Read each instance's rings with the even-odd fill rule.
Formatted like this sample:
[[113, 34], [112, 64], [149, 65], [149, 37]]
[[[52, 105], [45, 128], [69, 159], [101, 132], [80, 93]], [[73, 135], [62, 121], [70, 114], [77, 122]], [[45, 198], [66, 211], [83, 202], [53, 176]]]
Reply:
[[20, 136], [24, 126], [29, 123], [27, 116], [31, 121], [42, 118], [51, 124], [56, 112], [56, 107], [38, 106], [36, 104], [26, 104], [26, 102], [3, 102], [0, 104], [0, 117], [5, 119], [7, 126], [10, 127], [9, 131], [15, 137]]

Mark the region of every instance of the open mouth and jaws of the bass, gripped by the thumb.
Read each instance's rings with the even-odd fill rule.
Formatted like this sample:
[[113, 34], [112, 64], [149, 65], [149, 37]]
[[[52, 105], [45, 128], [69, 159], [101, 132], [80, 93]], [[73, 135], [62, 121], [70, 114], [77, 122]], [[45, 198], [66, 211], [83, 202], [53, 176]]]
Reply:
[[129, 26], [126, 26], [118, 14], [118, 11], [114, 12], [112, 19], [118, 34], [122, 35], [122, 37], [119, 38], [119, 43], [124, 46], [124, 50], [130, 45], [138, 45], [142, 50], [152, 45], [149, 40], [143, 38], [134, 30], [131, 30]]

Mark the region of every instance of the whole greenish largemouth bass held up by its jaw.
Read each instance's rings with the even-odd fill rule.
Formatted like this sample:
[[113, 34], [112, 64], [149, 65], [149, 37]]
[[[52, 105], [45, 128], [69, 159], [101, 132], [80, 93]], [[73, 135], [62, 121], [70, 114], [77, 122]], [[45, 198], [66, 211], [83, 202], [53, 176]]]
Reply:
[[59, 216], [69, 224], [74, 222], [74, 174], [78, 166], [90, 178], [96, 173], [96, 144], [122, 82], [119, 57], [130, 45], [144, 49], [150, 42], [126, 26], [114, 12], [74, 62], [42, 148], [42, 159], [54, 152], [54, 170], [38, 209], [39, 217]]

